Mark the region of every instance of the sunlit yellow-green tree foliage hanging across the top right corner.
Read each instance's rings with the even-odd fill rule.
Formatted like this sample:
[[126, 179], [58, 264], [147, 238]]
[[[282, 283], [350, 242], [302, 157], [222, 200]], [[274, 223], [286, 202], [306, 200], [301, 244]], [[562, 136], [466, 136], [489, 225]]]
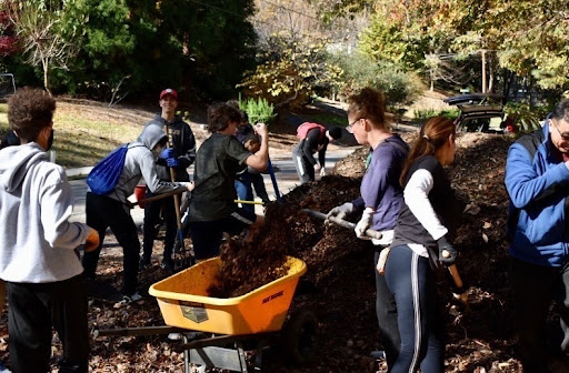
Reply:
[[506, 68], [531, 73], [542, 88], [559, 88], [569, 80], [567, 6], [566, 0], [379, 0], [362, 48], [393, 60], [402, 56], [412, 68], [421, 68], [409, 58], [419, 52], [485, 57], [489, 85], [493, 72]]

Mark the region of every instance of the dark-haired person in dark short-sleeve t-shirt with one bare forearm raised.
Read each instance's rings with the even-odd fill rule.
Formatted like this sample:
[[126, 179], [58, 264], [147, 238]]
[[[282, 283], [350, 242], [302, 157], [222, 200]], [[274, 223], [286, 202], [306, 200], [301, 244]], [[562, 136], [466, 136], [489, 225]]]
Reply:
[[239, 234], [257, 230], [263, 218], [234, 203], [236, 174], [241, 165], [262, 171], [269, 161], [269, 133], [259, 123], [254, 130], [261, 137], [261, 147], [254, 154], [236, 138], [241, 113], [220, 102], [208, 108], [208, 131], [196, 155], [193, 189], [190, 201], [190, 236], [197, 261], [219, 254], [223, 233]]

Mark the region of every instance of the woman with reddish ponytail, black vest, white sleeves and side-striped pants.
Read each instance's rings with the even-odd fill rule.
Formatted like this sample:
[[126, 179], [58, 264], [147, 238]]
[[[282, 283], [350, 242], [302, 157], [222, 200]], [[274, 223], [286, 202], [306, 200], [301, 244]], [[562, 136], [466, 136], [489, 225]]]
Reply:
[[392, 373], [419, 367], [423, 373], [445, 371], [445, 323], [433, 270], [452, 264], [458, 254], [447, 235], [456, 229], [462, 209], [442, 168], [455, 159], [455, 134], [450, 120], [429, 119], [401, 173], [405, 204], [385, 268], [401, 337]]

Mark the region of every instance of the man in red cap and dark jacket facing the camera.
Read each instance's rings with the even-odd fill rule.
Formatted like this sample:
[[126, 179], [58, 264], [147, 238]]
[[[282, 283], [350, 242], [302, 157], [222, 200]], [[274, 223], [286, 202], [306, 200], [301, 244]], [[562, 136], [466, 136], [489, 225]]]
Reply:
[[[160, 93], [160, 108], [162, 112], [146, 124], [146, 127], [156, 124], [166, 130], [168, 125], [168, 138], [170, 148], [164, 149], [157, 161], [158, 178], [162, 181], [189, 181], [188, 167], [196, 159], [196, 139], [188, 123], [179, 115], [176, 115], [178, 108], [178, 92], [173, 89], [164, 89]], [[144, 127], [144, 128], [146, 128]], [[173, 169], [174, 180], [171, 179], [170, 170]], [[147, 188], [146, 198], [153, 196]], [[157, 234], [156, 225], [160, 221], [160, 213], [166, 221], [164, 251], [161, 266], [167, 270], [173, 270], [172, 249], [176, 242], [176, 231], [178, 229], [173, 198], [147, 203], [144, 208], [143, 224], [143, 245], [140, 268], [150, 265], [150, 256]]]

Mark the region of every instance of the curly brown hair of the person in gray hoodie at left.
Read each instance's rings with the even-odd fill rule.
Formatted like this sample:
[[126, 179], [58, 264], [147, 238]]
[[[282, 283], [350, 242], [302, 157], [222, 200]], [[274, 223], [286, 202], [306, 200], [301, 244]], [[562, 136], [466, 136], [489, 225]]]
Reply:
[[36, 141], [40, 131], [51, 125], [56, 100], [37, 88], [20, 88], [8, 100], [8, 122], [23, 141]]

